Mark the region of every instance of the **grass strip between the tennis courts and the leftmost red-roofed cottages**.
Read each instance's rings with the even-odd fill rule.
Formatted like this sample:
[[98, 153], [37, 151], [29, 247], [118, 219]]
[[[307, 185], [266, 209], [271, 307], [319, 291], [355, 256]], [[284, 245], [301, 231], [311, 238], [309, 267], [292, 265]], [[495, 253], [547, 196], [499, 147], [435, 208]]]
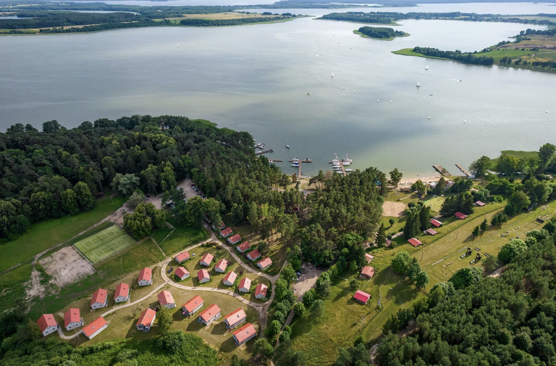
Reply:
[[59, 292], [49, 293], [43, 299], [35, 299], [30, 316], [37, 317], [44, 312], [57, 312], [76, 299], [90, 296], [97, 288], [109, 287], [115, 282], [122, 282], [123, 279], [135, 285], [137, 273], [141, 268], [151, 267], [153, 264], [160, 265], [164, 259], [165, 256], [151, 239], [133, 244], [116, 257], [95, 264], [97, 273], [59, 289]]

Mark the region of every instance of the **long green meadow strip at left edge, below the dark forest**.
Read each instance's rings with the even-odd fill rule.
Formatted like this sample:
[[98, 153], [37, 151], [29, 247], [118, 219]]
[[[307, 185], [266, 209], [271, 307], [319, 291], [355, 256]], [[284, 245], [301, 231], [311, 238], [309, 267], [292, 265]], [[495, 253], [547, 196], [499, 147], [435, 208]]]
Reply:
[[73, 216], [50, 219], [31, 226], [31, 231], [2, 245], [0, 272], [24, 262], [45, 249], [69, 240], [117, 210], [126, 201], [123, 197], [98, 200], [95, 208]]

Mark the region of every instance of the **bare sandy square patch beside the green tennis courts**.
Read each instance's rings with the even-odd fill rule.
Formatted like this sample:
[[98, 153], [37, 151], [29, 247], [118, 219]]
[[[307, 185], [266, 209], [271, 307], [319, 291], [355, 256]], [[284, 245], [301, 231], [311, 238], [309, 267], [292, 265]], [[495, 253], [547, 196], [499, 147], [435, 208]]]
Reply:
[[68, 284], [95, 273], [95, 268], [87, 259], [73, 247], [65, 247], [48, 257], [39, 260], [46, 273], [52, 276], [51, 283], [58, 287]]

